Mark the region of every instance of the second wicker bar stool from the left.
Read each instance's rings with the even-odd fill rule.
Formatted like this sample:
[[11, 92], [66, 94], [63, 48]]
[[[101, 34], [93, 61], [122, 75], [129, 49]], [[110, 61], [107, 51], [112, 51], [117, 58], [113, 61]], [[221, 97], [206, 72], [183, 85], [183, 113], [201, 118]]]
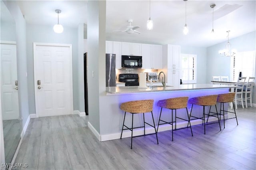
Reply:
[[[171, 98], [171, 99], [160, 100], [160, 101], [158, 101], [157, 105], [159, 107], [161, 107], [160, 117], [159, 117], [159, 121], [158, 121], [158, 127], [159, 127], [159, 125], [164, 125], [164, 124], [172, 125], [172, 141], [173, 141], [173, 131], [183, 129], [183, 128], [178, 128], [178, 129], [176, 128], [176, 119], [177, 118], [182, 119], [184, 121], [188, 121], [188, 123], [190, 125], [189, 117], [188, 117], [188, 120], [186, 120], [186, 119], [183, 119], [183, 118], [180, 118], [180, 117], [176, 116], [176, 110], [177, 109], [184, 109], [184, 108], [186, 108], [187, 115], [188, 115], [188, 108], [187, 108], [188, 97], [176, 97], [176, 98]], [[161, 120], [161, 114], [162, 114], [162, 109], [163, 108], [172, 110], [172, 121], [171, 122], [166, 122], [164, 120]], [[173, 121], [173, 110], [175, 110], [175, 121]], [[160, 124], [160, 121], [164, 122], [164, 123]], [[175, 129], [173, 130], [173, 124], [174, 123], [175, 123]], [[158, 132], [158, 127], [157, 127], [157, 130], [156, 130], [157, 132]], [[185, 128], [188, 128], [188, 127], [185, 127]], [[191, 134], [193, 136], [191, 125], [190, 125], [190, 130], [191, 130]]]

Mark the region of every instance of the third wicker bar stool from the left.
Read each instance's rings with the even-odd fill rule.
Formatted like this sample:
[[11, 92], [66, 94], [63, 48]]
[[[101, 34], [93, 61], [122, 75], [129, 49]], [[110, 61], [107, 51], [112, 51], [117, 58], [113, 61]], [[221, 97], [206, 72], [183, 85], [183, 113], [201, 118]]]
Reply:
[[[193, 117], [193, 118], [196, 118], [196, 119], [201, 119], [203, 121], [203, 125], [204, 125], [204, 134], [205, 134], [205, 126], [206, 125], [210, 125], [210, 124], [213, 124], [213, 123], [208, 123], [208, 124], [205, 124], [205, 115], [208, 115], [208, 118], [210, 116], [212, 117], [217, 117], [218, 118], [218, 122], [214, 122], [214, 123], [219, 123], [219, 126], [220, 126], [220, 119], [218, 117], [218, 111], [217, 111], [217, 107], [216, 107], [216, 101], [217, 101], [217, 97], [218, 95], [209, 95], [209, 96], [200, 96], [200, 97], [193, 97], [191, 99], [188, 100], [188, 103], [192, 104], [192, 107], [191, 107], [191, 111], [190, 111], [190, 116], [189, 116], [189, 120], [195, 120], [195, 119], [190, 119], [190, 117]], [[193, 109], [193, 105], [200, 105], [200, 106], [203, 106], [203, 117], [195, 117], [195, 116], [192, 116], [192, 109]], [[215, 109], [216, 109], [216, 113], [214, 112], [211, 112], [211, 107], [215, 105]], [[210, 110], [209, 110], [209, 113], [206, 114], [205, 113], [205, 107], [206, 106], [210, 106]], [[212, 115], [210, 115], [210, 113], [213, 113]], [[220, 130], [221, 130], [221, 127], [220, 127]]]

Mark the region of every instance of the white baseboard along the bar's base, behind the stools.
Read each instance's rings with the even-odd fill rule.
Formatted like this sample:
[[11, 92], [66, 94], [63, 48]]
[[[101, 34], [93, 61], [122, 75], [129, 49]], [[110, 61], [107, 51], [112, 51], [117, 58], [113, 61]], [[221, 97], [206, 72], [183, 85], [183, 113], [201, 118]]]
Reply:
[[[222, 116], [222, 120], [223, 120], [223, 116]], [[209, 122], [211, 122], [211, 121], [218, 121], [218, 119], [217, 119], [217, 117], [209, 117]], [[190, 121], [190, 123], [191, 123], [191, 126], [200, 125], [200, 124], [202, 124], [202, 120], [192, 120], [192, 121]], [[180, 122], [180, 123], [177, 123], [176, 128], [187, 127], [187, 125], [188, 125], [187, 122]], [[157, 126], [156, 126], [156, 129], [157, 129]], [[160, 125], [158, 127], [158, 132], [162, 132], [165, 130], [171, 130], [171, 129], [172, 129], [171, 125], [167, 125], [167, 124]], [[192, 127], [192, 130], [193, 130], [193, 127]], [[154, 132], [155, 132], [155, 130], [153, 127], [147, 127], [145, 129], [146, 134], [150, 134], [150, 133], [154, 133]], [[144, 134], [144, 128], [138, 128], [138, 129], [133, 130], [133, 136], [138, 136], [138, 135], [142, 135], [142, 134]], [[128, 138], [128, 137], [131, 137], [131, 135], [132, 135], [132, 132], [130, 130], [129, 131], [125, 130], [125, 131], [123, 131], [122, 138]], [[103, 134], [100, 136], [101, 136], [100, 141], [120, 139], [121, 132], [113, 133], [113, 134]]]

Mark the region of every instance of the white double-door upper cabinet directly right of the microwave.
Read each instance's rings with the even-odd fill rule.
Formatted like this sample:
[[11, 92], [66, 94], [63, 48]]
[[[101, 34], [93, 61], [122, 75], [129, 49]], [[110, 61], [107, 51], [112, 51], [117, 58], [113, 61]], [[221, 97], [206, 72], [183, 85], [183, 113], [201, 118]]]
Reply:
[[142, 44], [142, 68], [162, 69], [162, 45]]

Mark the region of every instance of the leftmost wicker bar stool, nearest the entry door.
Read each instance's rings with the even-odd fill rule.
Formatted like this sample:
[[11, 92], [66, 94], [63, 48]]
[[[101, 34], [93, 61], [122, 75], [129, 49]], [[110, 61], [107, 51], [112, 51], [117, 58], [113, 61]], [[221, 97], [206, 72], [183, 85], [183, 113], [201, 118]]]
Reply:
[[[124, 102], [121, 104], [120, 109], [122, 109], [123, 111], [125, 111], [124, 113], [124, 121], [125, 121], [125, 116], [126, 116], [126, 112], [129, 112], [132, 114], [132, 128], [128, 128], [126, 125], [124, 125], [123, 122], [123, 127], [122, 127], [122, 132], [121, 132], [121, 137], [122, 138], [122, 134], [123, 134], [123, 130], [131, 130], [133, 133], [133, 115], [134, 114], [139, 114], [139, 113], [143, 113], [143, 121], [144, 121], [144, 135], [139, 135], [139, 136], [145, 136], [145, 135], [150, 135], [150, 134], [156, 134], [156, 140], [157, 140], [157, 144], [158, 144], [158, 138], [157, 138], [157, 133], [156, 133], [156, 126], [155, 126], [155, 122], [154, 122], [154, 117], [153, 117], [153, 102], [154, 100], [140, 100], [140, 101], [128, 101], [128, 102]], [[144, 117], [144, 113], [148, 113], [151, 112], [152, 115], [152, 120], [153, 120], [153, 125], [150, 125], [149, 123], [145, 122], [145, 117]], [[155, 133], [150, 133], [150, 134], [145, 134], [145, 124], [150, 125], [151, 127], [153, 127], [155, 129]], [[124, 128], [126, 127], [126, 128]], [[142, 128], [142, 127], [135, 127], [135, 128]], [[135, 138], [138, 136], [132, 136], [131, 137], [131, 149], [132, 149], [132, 138]]]

